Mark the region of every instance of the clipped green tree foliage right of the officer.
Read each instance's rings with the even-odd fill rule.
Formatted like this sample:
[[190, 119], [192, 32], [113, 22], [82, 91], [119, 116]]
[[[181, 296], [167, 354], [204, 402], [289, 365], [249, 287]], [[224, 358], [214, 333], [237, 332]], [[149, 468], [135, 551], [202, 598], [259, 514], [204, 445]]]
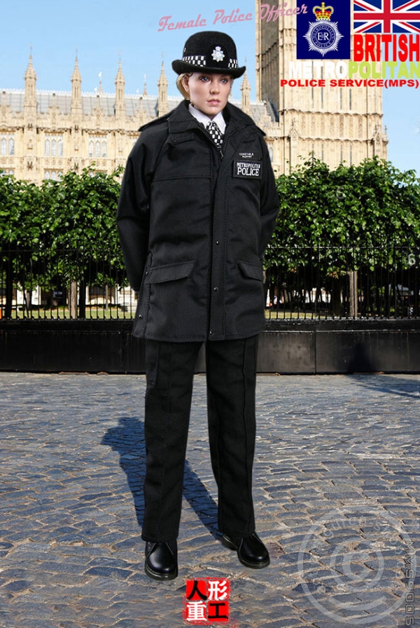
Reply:
[[266, 268], [281, 272], [286, 283], [300, 270], [303, 292], [314, 286], [307, 273], [313, 268], [330, 283], [339, 313], [339, 284], [349, 273], [354, 282], [358, 269], [392, 265], [401, 247], [419, 247], [419, 183], [414, 171], [400, 172], [379, 158], [336, 170], [314, 160], [282, 175], [277, 180], [281, 209]]

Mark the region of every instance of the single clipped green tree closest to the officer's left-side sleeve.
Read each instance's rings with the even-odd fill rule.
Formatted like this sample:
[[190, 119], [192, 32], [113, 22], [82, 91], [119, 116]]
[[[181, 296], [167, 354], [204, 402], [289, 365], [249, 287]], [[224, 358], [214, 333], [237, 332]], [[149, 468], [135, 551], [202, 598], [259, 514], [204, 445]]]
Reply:
[[71, 318], [85, 317], [85, 287], [115, 282], [123, 277], [118, 245], [116, 207], [120, 193], [118, 169], [112, 175], [85, 168], [67, 172], [59, 182], [44, 182], [49, 205], [44, 212], [43, 235], [55, 261], [55, 273], [69, 286]]

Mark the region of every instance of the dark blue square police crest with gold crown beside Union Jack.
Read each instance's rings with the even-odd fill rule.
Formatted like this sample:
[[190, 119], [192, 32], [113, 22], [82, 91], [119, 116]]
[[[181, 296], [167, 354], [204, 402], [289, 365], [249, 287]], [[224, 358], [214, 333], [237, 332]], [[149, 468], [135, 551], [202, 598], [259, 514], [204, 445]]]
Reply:
[[296, 15], [297, 59], [350, 58], [351, 2], [333, 3], [309, 0], [307, 12]]

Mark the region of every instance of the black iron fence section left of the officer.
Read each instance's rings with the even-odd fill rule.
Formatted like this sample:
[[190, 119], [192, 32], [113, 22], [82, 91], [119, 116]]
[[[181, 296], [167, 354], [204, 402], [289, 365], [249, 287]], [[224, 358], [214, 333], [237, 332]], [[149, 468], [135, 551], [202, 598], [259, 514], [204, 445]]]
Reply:
[[3, 248], [1, 318], [132, 318], [137, 303], [120, 264], [120, 252], [94, 260], [83, 250]]

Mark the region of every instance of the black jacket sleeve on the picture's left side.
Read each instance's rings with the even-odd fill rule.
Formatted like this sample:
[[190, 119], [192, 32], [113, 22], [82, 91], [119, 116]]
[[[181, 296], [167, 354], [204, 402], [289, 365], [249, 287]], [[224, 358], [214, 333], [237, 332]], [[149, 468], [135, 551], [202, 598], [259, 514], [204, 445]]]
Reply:
[[139, 291], [148, 253], [151, 172], [150, 151], [140, 137], [127, 161], [118, 202], [117, 225], [132, 289]]

